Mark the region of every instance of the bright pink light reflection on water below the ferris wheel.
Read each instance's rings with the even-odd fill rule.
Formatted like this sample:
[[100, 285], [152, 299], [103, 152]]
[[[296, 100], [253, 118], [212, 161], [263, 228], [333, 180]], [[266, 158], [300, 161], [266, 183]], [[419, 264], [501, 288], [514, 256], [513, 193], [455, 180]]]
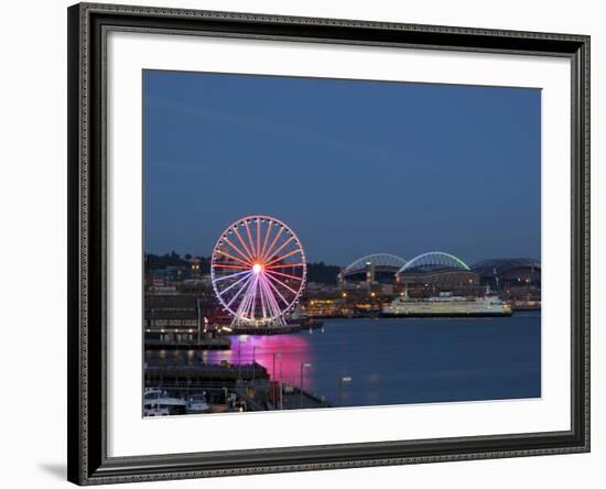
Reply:
[[[274, 335], [252, 336], [240, 335], [229, 336], [231, 341], [230, 350], [207, 350], [203, 359], [207, 363], [219, 363], [221, 360], [232, 365], [250, 365], [252, 362], [253, 348], [255, 361], [262, 365], [272, 380], [280, 377], [280, 357], [275, 355], [275, 374], [273, 373], [273, 354], [282, 352], [282, 382], [290, 382], [295, 385], [301, 383], [301, 363], [312, 363], [314, 368], [313, 350], [310, 340], [304, 335]], [[309, 376], [309, 368], [303, 371], [305, 389], [313, 389], [312, 376]]]

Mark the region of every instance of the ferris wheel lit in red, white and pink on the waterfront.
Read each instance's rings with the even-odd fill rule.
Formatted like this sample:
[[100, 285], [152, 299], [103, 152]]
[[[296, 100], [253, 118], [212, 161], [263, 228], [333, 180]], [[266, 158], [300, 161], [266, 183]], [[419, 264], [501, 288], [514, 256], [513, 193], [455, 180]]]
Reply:
[[213, 250], [210, 279], [234, 323], [284, 325], [305, 286], [305, 253], [296, 235], [269, 216], [244, 217]]

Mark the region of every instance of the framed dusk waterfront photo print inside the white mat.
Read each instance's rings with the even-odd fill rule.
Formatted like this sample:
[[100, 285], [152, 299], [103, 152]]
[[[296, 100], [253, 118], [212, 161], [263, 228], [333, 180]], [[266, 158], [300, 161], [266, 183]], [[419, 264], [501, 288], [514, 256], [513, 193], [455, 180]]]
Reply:
[[541, 90], [143, 70], [143, 416], [541, 398]]

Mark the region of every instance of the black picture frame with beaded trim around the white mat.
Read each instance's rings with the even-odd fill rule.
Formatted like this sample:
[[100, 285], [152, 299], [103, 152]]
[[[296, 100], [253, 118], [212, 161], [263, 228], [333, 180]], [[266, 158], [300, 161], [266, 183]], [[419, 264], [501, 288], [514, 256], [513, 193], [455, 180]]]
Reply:
[[[68, 480], [77, 485], [589, 450], [589, 36], [79, 3], [68, 15]], [[572, 67], [571, 430], [159, 456], [107, 456], [109, 30], [563, 56]], [[549, 243], [547, 243], [549, 246]]]

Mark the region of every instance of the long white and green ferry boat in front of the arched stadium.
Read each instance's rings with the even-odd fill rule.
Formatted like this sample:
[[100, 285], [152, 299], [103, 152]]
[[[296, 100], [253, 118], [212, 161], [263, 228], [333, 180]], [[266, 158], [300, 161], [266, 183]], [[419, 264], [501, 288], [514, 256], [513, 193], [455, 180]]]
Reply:
[[394, 298], [381, 309], [383, 317], [507, 317], [511, 307], [496, 295], [462, 297], [442, 292], [429, 298]]

